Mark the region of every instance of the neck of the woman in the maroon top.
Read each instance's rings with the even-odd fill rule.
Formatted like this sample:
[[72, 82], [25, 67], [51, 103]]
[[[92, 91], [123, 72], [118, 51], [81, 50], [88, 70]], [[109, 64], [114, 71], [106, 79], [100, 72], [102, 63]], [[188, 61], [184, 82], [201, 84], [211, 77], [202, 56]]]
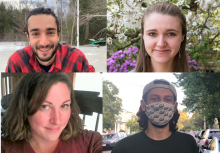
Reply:
[[45, 142], [45, 141], [37, 141], [34, 138], [32, 138], [29, 141], [30, 146], [34, 150], [34, 152], [37, 153], [51, 153], [54, 152], [57, 145], [59, 143], [59, 139], [53, 142]]

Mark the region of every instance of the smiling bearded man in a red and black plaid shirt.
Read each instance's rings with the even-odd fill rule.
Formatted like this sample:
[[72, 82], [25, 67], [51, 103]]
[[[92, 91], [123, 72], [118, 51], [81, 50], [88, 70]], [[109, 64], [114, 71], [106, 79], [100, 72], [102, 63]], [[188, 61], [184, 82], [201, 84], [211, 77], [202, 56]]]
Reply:
[[50, 8], [30, 11], [23, 32], [29, 45], [8, 59], [5, 72], [95, 72], [77, 48], [59, 44], [59, 21]]

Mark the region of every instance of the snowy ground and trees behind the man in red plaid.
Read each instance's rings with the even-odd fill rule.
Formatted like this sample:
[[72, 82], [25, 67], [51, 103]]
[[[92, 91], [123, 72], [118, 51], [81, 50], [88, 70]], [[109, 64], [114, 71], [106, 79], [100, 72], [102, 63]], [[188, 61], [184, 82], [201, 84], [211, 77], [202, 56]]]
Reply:
[[[0, 72], [13, 52], [28, 45], [22, 29], [29, 12], [37, 7], [51, 8], [58, 16], [61, 44], [77, 46], [77, 0], [0, 0]], [[106, 72], [106, 12], [106, 1], [79, 0], [79, 49], [97, 72]]]

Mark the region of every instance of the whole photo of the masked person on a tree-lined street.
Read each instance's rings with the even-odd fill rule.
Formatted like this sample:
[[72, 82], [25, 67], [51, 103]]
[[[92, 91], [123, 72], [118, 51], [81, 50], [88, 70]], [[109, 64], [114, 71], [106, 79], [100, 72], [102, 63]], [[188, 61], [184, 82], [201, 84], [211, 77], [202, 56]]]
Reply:
[[219, 76], [104, 73], [103, 152], [214, 151], [220, 135]]

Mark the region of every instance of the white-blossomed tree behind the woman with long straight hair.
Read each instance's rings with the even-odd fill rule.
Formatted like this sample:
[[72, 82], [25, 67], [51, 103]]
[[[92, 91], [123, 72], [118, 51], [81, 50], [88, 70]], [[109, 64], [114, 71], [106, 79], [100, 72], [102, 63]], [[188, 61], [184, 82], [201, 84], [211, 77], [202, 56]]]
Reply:
[[[108, 0], [107, 43], [115, 51], [140, 43], [140, 26], [143, 11], [163, 0]], [[170, 0], [180, 7], [187, 20], [187, 46], [191, 57], [196, 54], [203, 40], [206, 50], [220, 51], [220, 1], [219, 0]], [[201, 54], [204, 51], [204, 48]], [[199, 54], [199, 57], [201, 56]], [[218, 55], [218, 54], [217, 54]], [[205, 59], [207, 61], [207, 59]]]

